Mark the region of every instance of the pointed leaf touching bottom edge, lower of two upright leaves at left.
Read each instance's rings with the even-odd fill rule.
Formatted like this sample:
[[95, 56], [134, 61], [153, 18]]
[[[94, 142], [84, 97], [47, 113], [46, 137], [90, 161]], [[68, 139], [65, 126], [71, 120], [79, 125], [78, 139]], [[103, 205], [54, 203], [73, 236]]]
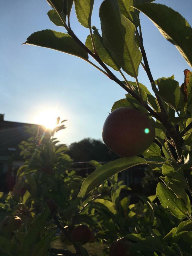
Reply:
[[55, 231], [44, 235], [41, 241], [36, 245], [33, 251], [33, 256], [46, 255], [54, 235], [55, 235]]

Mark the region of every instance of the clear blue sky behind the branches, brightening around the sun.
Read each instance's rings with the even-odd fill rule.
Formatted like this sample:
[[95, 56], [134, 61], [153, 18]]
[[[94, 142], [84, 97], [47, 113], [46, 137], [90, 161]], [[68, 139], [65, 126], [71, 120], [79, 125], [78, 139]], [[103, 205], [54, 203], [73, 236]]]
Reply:
[[[92, 15], [92, 25], [99, 29], [101, 3], [101, 0], [95, 0]], [[192, 25], [191, 0], [158, 0], [156, 3], [178, 11]], [[0, 1], [0, 113], [5, 113], [7, 121], [40, 123], [42, 111], [50, 109], [51, 112], [56, 108], [62, 119], [68, 119], [67, 129], [57, 135], [63, 143], [70, 144], [85, 137], [101, 139], [108, 112], [126, 92], [78, 57], [36, 46], [22, 46], [30, 34], [39, 30], [65, 32], [49, 20], [49, 9], [46, 0]], [[183, 71], [190, 69], [189, 65], [146, 16], [141, 13], [140, 18], [154, 79], [174, 74], [181, 85]], [[74, 7], [71, 27], [85, 42], [89, 30], [78, 23]], [[114, 73], [121, 78], [116, 71]], [[142, 67], [138, 79], [151, 91]]]

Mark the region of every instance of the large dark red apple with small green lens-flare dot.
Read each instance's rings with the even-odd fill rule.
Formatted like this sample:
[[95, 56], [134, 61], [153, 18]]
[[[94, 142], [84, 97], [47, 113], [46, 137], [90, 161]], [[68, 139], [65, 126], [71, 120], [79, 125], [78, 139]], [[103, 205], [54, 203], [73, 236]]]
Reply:
[[121, 107], [108, 115], [102, 131], [106, 146], [121, 157], [137, 156], [154, 141], [155, 129], [147, 115]]

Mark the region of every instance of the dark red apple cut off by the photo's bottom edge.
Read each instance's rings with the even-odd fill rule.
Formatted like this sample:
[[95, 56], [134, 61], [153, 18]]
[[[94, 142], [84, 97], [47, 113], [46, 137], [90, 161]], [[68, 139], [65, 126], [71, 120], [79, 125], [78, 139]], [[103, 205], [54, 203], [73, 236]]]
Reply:
[[115, 241], [109, 248], [109, 256], [131, 256], [130, 253], [128, 254], [129, 248], [129, 243], [121, 240]]

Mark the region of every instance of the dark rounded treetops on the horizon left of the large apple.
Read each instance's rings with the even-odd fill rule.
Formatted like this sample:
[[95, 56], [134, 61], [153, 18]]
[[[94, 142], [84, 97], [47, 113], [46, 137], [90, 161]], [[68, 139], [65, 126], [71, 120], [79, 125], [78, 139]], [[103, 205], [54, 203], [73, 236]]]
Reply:
[[96, 160], [98, 162], [110, 162], [119, 158], [100, 140], [85, 138], [79, 142], [74, 142], [69, 146], [69, 156], [74, 162], [86, 162]]

